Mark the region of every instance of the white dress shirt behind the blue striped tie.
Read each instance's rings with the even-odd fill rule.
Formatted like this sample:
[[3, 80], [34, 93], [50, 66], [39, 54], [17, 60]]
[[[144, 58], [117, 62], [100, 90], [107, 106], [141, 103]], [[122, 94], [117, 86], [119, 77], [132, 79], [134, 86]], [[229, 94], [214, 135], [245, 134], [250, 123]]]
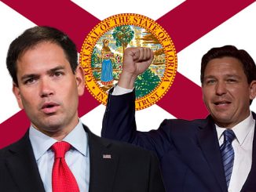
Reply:
[[[232, 127], [236, 138], [232, 141], [235, 158], [229, 183], [229, 192], [239, 192], [242, 189], [243, 184], [245, 183], [251, 170], [254, 125], [255, 120], [252, 114], [250, 114], [248, 118]], [[216, 129], [218, 134], [218, 141], [221, 146], [224, 141], [224, 136], [222, 133], [225, 131], [225, 128], [221, 128], [216, 125]]]

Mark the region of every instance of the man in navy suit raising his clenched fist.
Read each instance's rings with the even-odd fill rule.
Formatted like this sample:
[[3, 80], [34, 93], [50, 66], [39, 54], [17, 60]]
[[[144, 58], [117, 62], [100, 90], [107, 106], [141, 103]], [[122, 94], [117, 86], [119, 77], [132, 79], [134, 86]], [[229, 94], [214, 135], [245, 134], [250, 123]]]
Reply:
[[232, 45], [210, 49], [201, 65], [210, 115], [164, 120], [157, 130], [138, 132], [133, 83], [152, 58], [150, 49], [126, 49], [119, 83], [108, 96], [102, 136], [155, 151], [166, 191], [256, 191], [256, 114], [249, 108], [256, 96], [256, 67], [251, 56]]

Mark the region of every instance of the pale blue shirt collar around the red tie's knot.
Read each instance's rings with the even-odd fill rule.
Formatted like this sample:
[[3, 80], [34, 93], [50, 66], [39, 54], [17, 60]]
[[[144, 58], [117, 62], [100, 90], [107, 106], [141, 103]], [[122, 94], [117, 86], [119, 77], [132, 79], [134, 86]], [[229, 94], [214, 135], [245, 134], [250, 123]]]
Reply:
[[[31, 140], [36, 161], [38, 161], [38, 159], [57, 142], [57, 139], [46, 136], [46, 134], [38, 131], [38, 129], [35, 129], [32, 125], [29, 129], [29, 139]], [[82, 155], [88, 156], [88, 136], [87, 132], [83, 129], [80, 119], [78, 125], [75, 126], [75, 129], [69, 132], [63, 140], [70, 143], [71, 146], [75, 148], [75, 150], [78, 150]]]

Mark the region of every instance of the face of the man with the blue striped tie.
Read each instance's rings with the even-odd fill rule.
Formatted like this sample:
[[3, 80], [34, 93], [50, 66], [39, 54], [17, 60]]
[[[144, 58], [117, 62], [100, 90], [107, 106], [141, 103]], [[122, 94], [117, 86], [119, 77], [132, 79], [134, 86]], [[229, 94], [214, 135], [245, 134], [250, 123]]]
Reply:
[[202, 88], [204, 103], [219, 126], [232, 128], [249, 116], [256, 81], [248, 84], [240, 60], [228, 56], [210, 60]]

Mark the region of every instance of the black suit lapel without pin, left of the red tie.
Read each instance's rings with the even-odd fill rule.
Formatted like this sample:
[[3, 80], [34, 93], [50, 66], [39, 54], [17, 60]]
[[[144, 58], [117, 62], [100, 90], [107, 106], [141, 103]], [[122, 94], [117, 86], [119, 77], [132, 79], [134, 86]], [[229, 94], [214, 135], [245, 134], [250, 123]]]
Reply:
[[18, 143], [9, 147], [9, 154], [5, 163], [20, 191], [45, 191], [35, 162], [28, 131]]

